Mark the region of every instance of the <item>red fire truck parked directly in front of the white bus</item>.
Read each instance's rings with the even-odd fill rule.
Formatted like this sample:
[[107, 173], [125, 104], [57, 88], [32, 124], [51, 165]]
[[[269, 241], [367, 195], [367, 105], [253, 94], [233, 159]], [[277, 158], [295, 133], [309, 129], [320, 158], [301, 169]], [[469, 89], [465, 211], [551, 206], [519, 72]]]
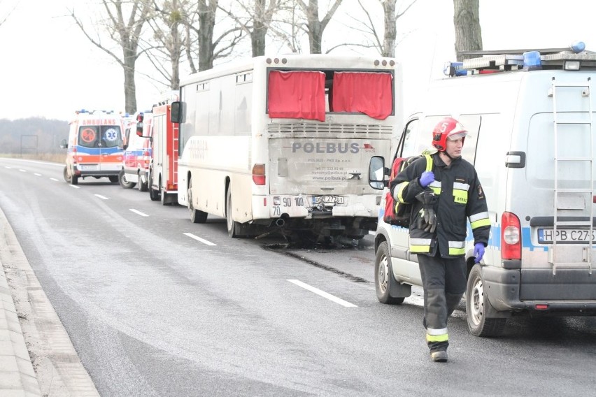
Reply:
[[171, 122], [171, 106], [159, 103], [153, 107], [151, 160], [148, 190], [151, 200], [178, 204], [178, 124]]

